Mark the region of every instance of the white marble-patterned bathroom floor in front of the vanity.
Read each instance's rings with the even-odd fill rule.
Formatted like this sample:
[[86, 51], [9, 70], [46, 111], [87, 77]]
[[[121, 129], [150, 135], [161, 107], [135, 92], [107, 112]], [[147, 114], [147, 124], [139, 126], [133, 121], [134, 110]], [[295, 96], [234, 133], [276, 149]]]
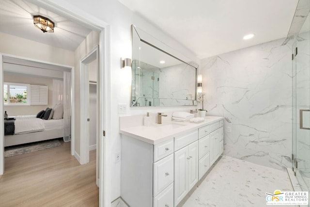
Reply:
[[264, 207], [275, 190], [293, 191], [286, 171], [223, 156], [183, 207]]

